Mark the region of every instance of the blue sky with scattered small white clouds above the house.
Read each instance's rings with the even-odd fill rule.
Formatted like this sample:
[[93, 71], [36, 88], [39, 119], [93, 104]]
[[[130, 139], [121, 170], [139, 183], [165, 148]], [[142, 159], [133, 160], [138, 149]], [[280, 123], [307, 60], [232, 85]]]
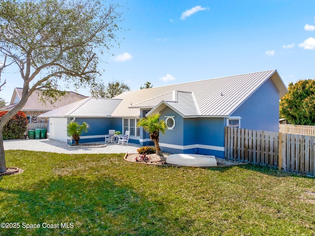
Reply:
[[[120, 46], [101, 79], [131, 90], [277, 69], [284, 83], [315, 78], [314, 0], [131, 0]], [[17, 74], [0, 97], [10, 101]], [[9, 81], [10, 80], [10, 81]], [[89, 96], [88, 90], [79, 93]]]

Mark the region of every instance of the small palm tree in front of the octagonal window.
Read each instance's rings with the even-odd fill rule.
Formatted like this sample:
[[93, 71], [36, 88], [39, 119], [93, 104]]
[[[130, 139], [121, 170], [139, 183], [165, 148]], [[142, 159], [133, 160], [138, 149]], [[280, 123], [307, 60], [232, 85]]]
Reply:
[[151, 140], [154, 141], [154, 145], [156, 146], [157, 155], [163, 157], [162, 151], [159, 147], [158, 134], [161, 132], [163, 135], [165, 134], [166, 124], [164, 120], [159, 120], [159, 114], [154, 114], [148, 117], [143, 117], [137, 123], [137, 126], [142, 126], [145, 132], [150, 134]]

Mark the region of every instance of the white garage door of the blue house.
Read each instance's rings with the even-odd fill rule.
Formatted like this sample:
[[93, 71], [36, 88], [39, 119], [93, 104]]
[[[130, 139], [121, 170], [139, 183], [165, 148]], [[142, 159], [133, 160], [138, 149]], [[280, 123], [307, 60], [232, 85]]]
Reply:
[[49, 138], [67, 142], [67, 118], [49, 118]]

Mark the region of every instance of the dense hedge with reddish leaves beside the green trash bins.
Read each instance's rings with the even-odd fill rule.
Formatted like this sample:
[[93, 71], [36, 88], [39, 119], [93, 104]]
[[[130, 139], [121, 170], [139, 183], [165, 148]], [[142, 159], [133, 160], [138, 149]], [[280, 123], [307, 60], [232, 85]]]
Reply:
[[[1, 111], [0, 117], [4, 116], [7, 111]], [[28, 119], [24, 112], [19, 111], [3, 127], [3, 139], [21, 139], [26, 132]]]

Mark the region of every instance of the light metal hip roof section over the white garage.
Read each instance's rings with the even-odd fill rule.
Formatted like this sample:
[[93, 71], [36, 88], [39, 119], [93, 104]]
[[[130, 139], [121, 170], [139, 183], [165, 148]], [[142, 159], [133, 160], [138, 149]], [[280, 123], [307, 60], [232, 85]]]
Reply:
[[46, 112], [39, 117], [108, 117], [121, 101], [91, 97]]

